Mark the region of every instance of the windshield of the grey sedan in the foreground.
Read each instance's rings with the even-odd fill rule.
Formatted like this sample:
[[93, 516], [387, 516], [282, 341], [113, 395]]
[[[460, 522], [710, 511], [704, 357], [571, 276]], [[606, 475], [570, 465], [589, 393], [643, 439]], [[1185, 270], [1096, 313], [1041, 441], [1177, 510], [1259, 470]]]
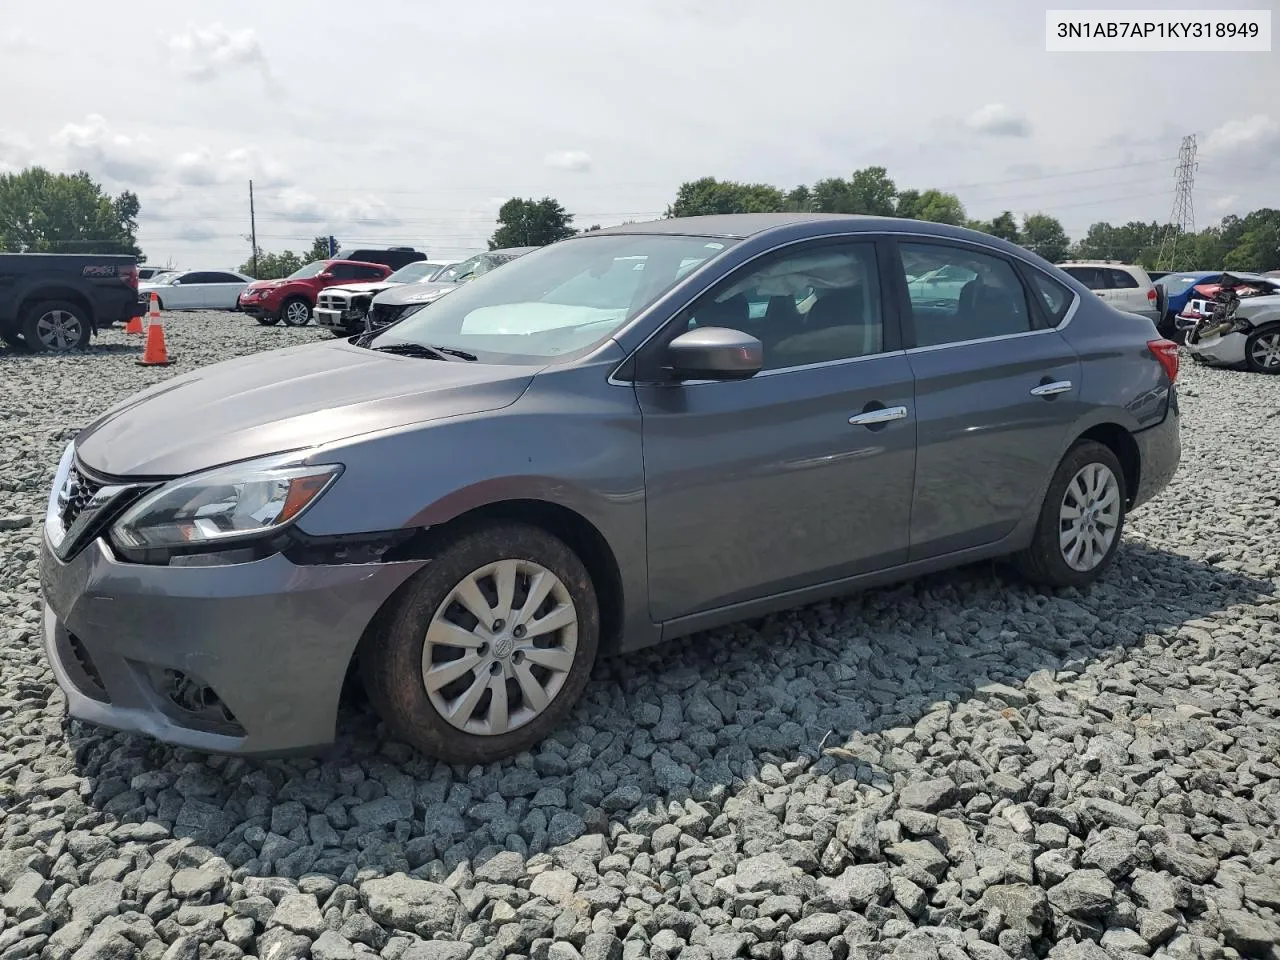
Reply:
[[669, 234], [561, 241], [463, 284], [370, 346], [417, 343], [517, 364], [577, 355], [735, 242]]

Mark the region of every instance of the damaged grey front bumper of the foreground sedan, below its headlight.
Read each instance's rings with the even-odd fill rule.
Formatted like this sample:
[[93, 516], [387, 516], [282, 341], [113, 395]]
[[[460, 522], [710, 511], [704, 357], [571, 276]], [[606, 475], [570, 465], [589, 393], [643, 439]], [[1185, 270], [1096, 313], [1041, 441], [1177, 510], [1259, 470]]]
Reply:
[[69, 716], [211, 753], [333, 741], [361, 637], [421, 561], [152, 566], [41, 550], [44, 649]]

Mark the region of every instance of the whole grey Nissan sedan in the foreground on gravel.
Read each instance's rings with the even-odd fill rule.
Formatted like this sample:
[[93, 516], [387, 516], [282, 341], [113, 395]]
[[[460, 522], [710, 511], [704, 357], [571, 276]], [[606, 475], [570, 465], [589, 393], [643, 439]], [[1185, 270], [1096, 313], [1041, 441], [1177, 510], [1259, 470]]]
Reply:
[[[954, 296], [909, 291], [946, 268]], [[961, 227], [593, 230], [79, 430], [44, 649], [92, 723], [302, 750], [358, 676], [392, 736], [489, 763], [602, 655], [997, 557], [1087, 589], [1176, 471], [1178, 371], [1151, 320]]]

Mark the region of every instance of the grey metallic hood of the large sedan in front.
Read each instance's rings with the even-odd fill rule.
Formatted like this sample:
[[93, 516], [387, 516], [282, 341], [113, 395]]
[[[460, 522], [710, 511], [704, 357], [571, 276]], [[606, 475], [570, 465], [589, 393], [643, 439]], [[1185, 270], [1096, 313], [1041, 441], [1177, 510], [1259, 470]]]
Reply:
[[527, 366], [421, 360], [346, 340], [201, 367], [137, 393], [76, 438], [109, 476], [175, 476], [515, 403]]

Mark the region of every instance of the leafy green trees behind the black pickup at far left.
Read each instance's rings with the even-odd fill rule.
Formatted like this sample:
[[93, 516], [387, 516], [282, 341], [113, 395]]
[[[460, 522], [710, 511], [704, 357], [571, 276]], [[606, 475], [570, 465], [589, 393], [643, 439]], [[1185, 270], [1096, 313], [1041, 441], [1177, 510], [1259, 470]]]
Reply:
[[104, 193], [87, 173], [28, 166], [0, 175], [0, 250], [26, 253], [132, 253], [138, 248], [136, 193]]

